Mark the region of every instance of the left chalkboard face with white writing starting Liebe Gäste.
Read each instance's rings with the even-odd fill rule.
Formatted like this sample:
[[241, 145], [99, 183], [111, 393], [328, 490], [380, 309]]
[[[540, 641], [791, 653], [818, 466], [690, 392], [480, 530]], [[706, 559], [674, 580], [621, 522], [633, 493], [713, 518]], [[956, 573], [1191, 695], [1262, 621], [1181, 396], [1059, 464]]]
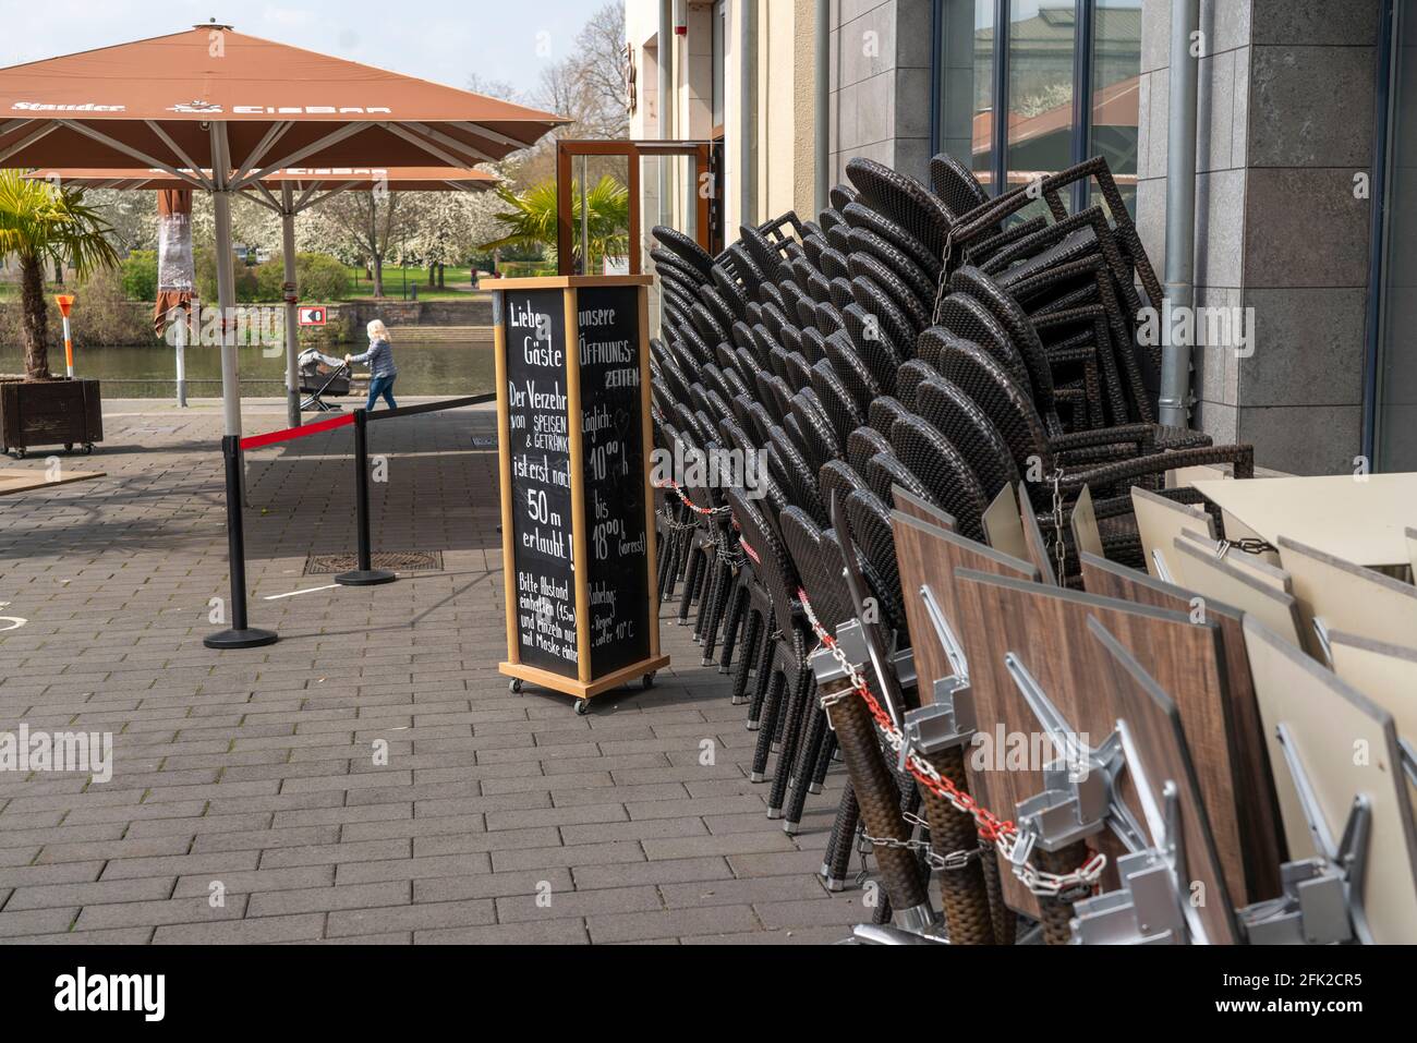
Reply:
[[565, 308], [554, 289], [507, 293], [503, 317], [517, 658], [577, 677]]

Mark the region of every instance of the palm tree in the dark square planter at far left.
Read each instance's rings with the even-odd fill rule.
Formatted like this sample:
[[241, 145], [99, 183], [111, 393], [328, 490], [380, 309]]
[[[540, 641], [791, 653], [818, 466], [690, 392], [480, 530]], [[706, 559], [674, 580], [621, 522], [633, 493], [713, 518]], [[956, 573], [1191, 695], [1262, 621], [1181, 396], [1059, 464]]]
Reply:
[[79, 188], [57, 188], [0, 170], [0, 254], [20, 259], [20, 327], [28, 380], [50, 380], [50, 315], [44, 302], [47, 262], [69, 264], [82, 279], [118, 264], [112, 225], [84, 203]]

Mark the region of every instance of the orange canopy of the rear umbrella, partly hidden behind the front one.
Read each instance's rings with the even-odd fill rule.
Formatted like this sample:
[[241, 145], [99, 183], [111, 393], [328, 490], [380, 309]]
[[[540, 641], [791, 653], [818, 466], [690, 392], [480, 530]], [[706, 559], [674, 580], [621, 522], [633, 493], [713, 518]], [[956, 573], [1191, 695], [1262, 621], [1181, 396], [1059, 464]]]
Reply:
[[[184, 171], [190, 173], [190, 171]], [[210, 171], [203, 171], [210, 176]], [[190, 188], [190, 183], [160, 169], [40, 167], [26, 177], [82, 188], [162, 191]], [[349, 188], [368, 191], [380, 186], [390, 191], [480, 191], [497, 184], [493, 174], [465, 167], [286, 167], [265, 174], [261, 184], [275, 188], [290, 184], [299, 193]], [[256, 186], [248, 186], [255, 191]]]

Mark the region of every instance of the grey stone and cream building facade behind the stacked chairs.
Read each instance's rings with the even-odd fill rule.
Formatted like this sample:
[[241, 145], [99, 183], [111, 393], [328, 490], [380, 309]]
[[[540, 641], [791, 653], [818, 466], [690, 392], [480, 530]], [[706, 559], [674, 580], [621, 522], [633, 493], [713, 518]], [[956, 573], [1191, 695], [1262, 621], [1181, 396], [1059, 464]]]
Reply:
[[[642, 99], [659, 7], [628, 3]], [[676, 136], [721, 137], [730, 234], [744, 9], [752, 220], [815, 210], [820, 79], [832, 183], [854, 156], [925, 177], [949, 152], [993, 190], [1101, 153], [1163, 268], [1172, 0], [832, 0], [820, 75], [811, 0], [676, 6]], [[1417, 0], [1200, 0], [1196, 305], [1244, 326], [1193, 349], [1192, 422], [1263, 466], [1417, 469], [1414, 41]]]

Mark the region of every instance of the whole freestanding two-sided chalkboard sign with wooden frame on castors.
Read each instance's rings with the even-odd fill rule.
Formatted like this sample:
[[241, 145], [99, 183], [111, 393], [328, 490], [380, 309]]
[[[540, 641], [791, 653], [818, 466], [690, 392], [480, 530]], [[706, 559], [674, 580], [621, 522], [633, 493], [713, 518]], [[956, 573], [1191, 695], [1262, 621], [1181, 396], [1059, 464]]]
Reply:
[[643, 276], [507, 279], [496, 300], [507, 662], [587, 700], [659, 650]]

